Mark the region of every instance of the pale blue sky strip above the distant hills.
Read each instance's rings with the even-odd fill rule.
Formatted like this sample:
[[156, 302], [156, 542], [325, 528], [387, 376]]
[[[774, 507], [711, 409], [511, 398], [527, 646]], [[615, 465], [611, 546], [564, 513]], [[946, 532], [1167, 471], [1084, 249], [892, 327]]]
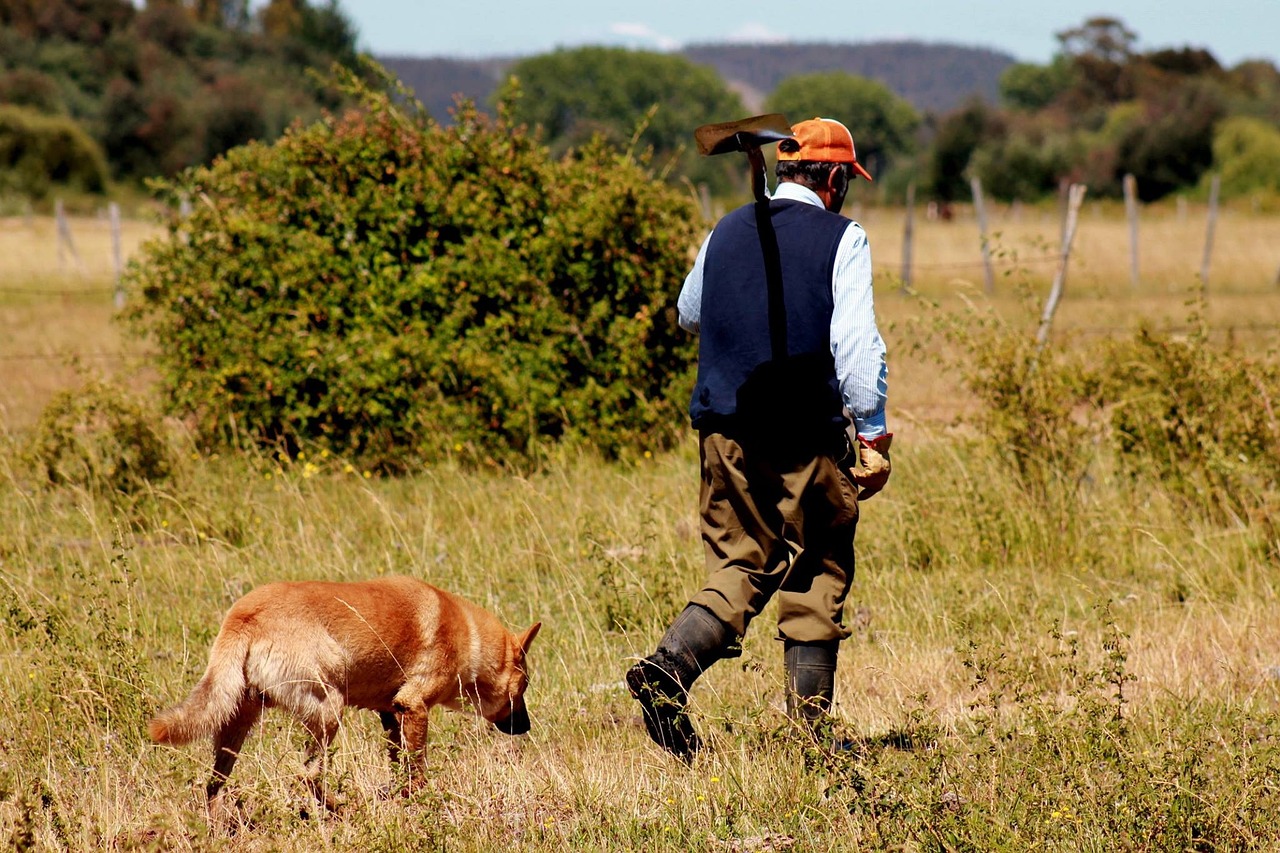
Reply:
[[[375, 55], [525, 56], [580, 45], [678, 50], [699, 42], [924, 41], [1043, 64], [1055, 32], [1119, 18], [1138, 50], [1203, 47], [1231, 67], [1280, 64], [1280, 0], [338, 0]], [[794, 10], [785, 14], [781, 10]]]

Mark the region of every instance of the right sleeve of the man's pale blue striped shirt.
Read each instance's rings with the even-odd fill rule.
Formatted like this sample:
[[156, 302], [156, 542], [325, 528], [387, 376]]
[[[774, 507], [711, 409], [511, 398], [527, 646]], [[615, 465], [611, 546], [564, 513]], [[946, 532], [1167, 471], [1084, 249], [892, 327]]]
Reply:
[[872, 300], [872, 248], [858, 223], [850, 223], [840, 238], [831, 287], [831, 355], [840, 393], [858, 434], [878, 438], [887, 432], [888, 365]]

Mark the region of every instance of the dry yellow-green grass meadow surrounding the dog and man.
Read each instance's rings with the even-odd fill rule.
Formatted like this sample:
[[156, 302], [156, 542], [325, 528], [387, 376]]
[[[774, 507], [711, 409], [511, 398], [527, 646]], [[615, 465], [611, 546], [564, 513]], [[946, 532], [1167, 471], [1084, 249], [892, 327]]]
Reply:
[[[972, 220], [916, 219], [915, 289], [895, 278], [901, 211], [860, 215], [881, 266], [895, 473], [863, 505], [836, 716], [782, 712], [773, 611], [694, 689], [692, 767], [645, 736], [622, 674], [701, 579], [692, 435], [628, 462], [452, 465], [367, 475], [344, 460], [196, 453], [134, 500], [40, 482], [41, 411], [86, 375], [138, 393], [143, 343], [113, 323], [105, 227], [0, 222], [0, 844], [14, 849], [1219, 850], [1280, 847], [1280, 534], [1215, 520], [1101, 451], [1076, 487], [1029, 493], [975, 428], [940, 315], [1034, 333], [1051, 210], [992, 222], [983, 295]], [[155, 233], [129, 222], [125, 246]], [[1144, 211], [1130, 284], [1119, 211], [1088, 206], [1055, 339], [1180, 330], [1201, 291], [1203, 210]], [[1215, 339], [1276, 357], [1280, 216], [1217, 225]], [[675, 297], [675, 295], [672, 295]], [[1028, 307], [1029, 306], [1029, 307]], [[1030, 310], [1030, 313], [1028, 313]], [[1242, 389], [1242, 393], [1251, 393]], [[1274, 420], [1274, 416], [1272, 416]], [[1276, 503], [1271, 503], [1275, 507]], [[541, 620], [532, 731], [438, 712], [431, 783], [403, 799], [374, 715], [352, 712], [315, 816], [305, 733], [266, 715], [211, 831], [207, 745], [146, 739], [204, 670], [223, 612], [278, 579], [410, 574], [513, 629]], [[833, 744], [838, 744], [836, 748]]]

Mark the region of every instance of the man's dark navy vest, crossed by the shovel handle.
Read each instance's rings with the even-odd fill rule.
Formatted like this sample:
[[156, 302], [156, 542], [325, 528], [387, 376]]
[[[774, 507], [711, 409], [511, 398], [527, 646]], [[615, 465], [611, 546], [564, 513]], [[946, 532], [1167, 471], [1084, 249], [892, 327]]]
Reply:
[[[707, 246], [698, 384], [689, 405], [695, 429], [732, 432], [744, 420], [762, 420], [756, 412], [774, 397], [780, 416], [801, 429], [829, 432], [847, 423], [831, 356], [831, 275], [850, 220], [801, 201], [774, 201], [769, 215], [782, 261], [788, 357], [773, 361], [764, 254], [754, 205], [745, 205], [721, 219]], [[772, 375], [760, 380], [764, 373]]]

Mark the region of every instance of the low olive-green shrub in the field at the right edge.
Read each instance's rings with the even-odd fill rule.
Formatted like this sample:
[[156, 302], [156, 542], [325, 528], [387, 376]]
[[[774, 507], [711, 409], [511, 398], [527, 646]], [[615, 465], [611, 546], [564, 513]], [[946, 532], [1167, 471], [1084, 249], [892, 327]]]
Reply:
[[1143, 329], [1107, 353], [1100, 394], [1123, 465], [1221, 517], [1280, 491], [1280, 368], [1202, 336]]

